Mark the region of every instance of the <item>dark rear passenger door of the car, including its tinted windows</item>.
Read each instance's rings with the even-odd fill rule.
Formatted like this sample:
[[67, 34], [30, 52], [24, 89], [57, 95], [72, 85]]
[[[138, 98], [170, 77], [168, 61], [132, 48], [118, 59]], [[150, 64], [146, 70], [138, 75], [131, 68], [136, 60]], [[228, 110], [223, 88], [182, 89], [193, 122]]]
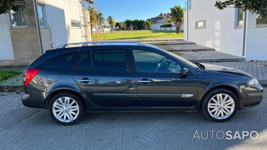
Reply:
[[88, 98], [100, 107], [136, 106], [136, 85], [125, 47], [83, 49], [71, 74]]

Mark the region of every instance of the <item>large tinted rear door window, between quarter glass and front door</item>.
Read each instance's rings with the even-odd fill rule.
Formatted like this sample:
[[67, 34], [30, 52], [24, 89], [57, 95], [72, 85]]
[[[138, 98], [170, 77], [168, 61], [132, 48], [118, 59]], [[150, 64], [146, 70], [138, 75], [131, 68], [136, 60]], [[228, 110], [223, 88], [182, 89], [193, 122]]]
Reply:
[[95, 71], [128, 72], [124, 49], [92, 50]]

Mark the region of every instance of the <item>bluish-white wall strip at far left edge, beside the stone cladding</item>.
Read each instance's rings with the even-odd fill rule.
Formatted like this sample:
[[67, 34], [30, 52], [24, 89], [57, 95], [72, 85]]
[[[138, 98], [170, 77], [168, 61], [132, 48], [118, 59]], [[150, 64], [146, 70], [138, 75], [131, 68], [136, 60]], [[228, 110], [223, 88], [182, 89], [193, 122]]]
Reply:
[[14, 60], [8, 16], [9, 14], [0, 15], [0, 60]]

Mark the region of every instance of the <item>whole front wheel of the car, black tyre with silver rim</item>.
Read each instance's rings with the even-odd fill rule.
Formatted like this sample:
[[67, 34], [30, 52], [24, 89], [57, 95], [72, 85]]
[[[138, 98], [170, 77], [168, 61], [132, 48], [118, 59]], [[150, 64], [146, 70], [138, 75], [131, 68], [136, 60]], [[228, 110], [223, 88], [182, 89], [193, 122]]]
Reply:
[[216, 88], [205, 95], [201, 104], [202, 113], [212, 121], [230, 120], [238, 109], [238, 100], [233, 92]]

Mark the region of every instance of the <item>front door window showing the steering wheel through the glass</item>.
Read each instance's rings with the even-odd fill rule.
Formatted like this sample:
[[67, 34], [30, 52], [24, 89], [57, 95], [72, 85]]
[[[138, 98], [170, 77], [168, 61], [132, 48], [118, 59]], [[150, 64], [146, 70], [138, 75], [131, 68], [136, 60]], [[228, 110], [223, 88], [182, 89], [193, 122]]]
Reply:
[[132, 50], [138, 72], [182, 73], [180, 64], [160, 55], [146, 50]]

